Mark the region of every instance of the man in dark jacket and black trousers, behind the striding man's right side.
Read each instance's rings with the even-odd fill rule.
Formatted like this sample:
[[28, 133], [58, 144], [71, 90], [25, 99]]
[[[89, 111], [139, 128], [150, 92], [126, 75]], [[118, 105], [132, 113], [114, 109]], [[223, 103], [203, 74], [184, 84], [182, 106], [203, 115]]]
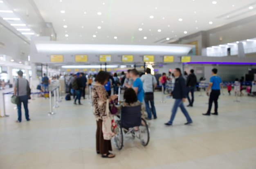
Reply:
[[[194, 70], [190, 70], [190, 74], [186, 80], [186, 87], [187, 87], [187, 98], [189, 100], [189, 105], [187, 107], [193, 107], [194, 103], [194, 91], [195, 91], [195, 85], [196, 85], [197, 79], [194, 74]], [[192, 100], [189, 98], [189, 92], [191, 92]]]

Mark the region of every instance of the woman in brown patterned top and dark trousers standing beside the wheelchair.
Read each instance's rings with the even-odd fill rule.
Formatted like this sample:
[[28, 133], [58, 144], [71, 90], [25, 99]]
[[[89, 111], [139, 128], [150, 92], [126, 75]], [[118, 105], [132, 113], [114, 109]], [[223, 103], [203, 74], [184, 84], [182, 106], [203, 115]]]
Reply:
[[92, 106], [93, 114], [97, 121], [97, 132], [96, 132], [96, 151], [97, 154], [101, 154], [103, 158], [113, 158], [115, 154], [111, 154], [112, 151], [111, 141], [104, 140], [102, 133], [102, 116], [105, 115], [107, 99], [109, 101], [115, 100], [117, 95], [111, 95], [108, 97], [103, 85], [108, 81], [109, 73], [100, 71], [95, 78], [94, 86], [92, 87]]

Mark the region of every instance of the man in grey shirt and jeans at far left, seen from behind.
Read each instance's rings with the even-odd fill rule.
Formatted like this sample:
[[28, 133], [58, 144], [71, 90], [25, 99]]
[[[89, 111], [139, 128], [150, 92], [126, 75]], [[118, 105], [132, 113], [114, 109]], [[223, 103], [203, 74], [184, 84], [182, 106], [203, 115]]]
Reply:
[[19, 97], [19, 103], [17, 104], [17, 109], [18, 109], [18, 120], [16, 121], [17, 123], [21, 122], [21, 103], [23, 102], [24, 109], [25, 109], [25, 116], [27, 121], [30, 121], [29, 119], [29, 110], [27, 107], [28, 103], [28, 86], [29, 82], [22, 78], [23, 72], [18, 71], [18, 79], [14, 82], [14, 91], [13, 94]]

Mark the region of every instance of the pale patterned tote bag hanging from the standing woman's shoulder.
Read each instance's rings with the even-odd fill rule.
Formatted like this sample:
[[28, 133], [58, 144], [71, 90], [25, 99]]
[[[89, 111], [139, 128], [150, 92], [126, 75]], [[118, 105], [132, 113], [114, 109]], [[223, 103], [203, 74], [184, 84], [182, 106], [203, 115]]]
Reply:
[[104, 140], [110, 140], [118, 132], [114, 116], [109, 112], [109, 102], [107, 99], [105, 115], [102, 116], [102, 133]]

